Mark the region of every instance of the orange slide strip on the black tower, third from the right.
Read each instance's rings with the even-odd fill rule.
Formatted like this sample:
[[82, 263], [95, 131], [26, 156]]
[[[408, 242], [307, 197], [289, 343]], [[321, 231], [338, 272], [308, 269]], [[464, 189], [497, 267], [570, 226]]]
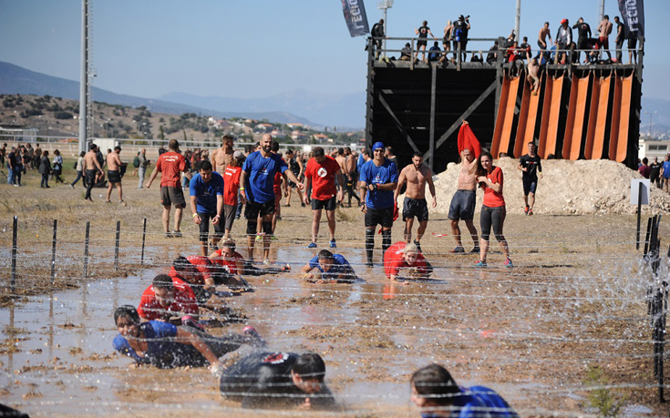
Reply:
[[576, 74], [573, 74], [568, 119], [565, 122], [565, 134], [563, 136], [562, 156], [565, 159], [579, 159], [580, 157], [588, 92], [589, 75], [579, 78]]

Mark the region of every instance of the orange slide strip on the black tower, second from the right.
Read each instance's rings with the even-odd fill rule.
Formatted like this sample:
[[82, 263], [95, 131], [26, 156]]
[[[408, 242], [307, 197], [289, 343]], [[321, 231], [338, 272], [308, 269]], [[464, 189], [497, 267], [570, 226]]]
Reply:
[[603, 158], [611, 80], [612, 77], [609, 76], [593, 78], [589, 128], [586, 131], [586, 145], [584, 146], [584, 158], [586, 159]]

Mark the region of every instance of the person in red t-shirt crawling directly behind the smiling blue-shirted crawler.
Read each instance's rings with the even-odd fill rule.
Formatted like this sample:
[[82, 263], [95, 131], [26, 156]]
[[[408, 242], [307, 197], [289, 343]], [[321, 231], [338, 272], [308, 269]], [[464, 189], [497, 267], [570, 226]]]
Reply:
[[[139, 300], [139, 317], [144, 321], [170, 321], [173, 316], [191, 315], [198, 317], [198, 303], [195, 295], [184, 281], [159, 274]], [[172, 321], [181, 324], [181, 321]]]

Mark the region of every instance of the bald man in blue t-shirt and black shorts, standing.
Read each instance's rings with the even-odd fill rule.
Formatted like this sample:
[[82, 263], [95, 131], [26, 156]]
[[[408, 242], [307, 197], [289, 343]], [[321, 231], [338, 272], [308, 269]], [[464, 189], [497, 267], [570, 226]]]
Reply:
[[[249, 260], [253, 261], [253, 243], [256, 237], [256, 221], [263, 218], [263, 257], [267, 260], [270, 253], [270, 238], [273, 235], [274, 175], [279, 172], [293, 181], [298, 189], [304, 189], [303, 183], [288, 169], [286, 162], [272, 152], [273, 137], [263, 135], [261, 149], [249, 154], [244, 161], [240, 174], [240, 196], [246, 203], [244, 218], [247, 219], [247, 250]], [[263, 260], [263, 261], [265, 261]]]

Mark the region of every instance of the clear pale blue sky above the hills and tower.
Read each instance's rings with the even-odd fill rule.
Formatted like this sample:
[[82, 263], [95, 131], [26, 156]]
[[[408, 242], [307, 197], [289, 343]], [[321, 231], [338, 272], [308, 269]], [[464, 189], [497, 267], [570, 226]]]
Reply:
[[[366, 2], [370, 25], [381, 16], [376, 3]], [[521, 36], [535, 46], [541, 24], [549, 21], [553, 36], [563, 17], [572, 25], [583, 16], [597, 26], [598, 4], [523, 0]], [[414, 36], [414, 28], [428, 20], [439, 37], [447, 20], [463, 14], [471, 15], [471, 37], [507, 36], [515, 5], [515, 0], [396, 0], [388, 11], [387, 35]], [[93, 0], [90, 9], [94, 85], [116, 93], [248, 98], [296, 89], [327, 94], [366, 89], [365, 40], [349, 36], [337, 0]], [[605, 13], [611, 19], [618, 15], [615, 0], [606, 0]], [[0, 0], [0, 60], [78, 80], [80, 16], [80, 0]], [[662, 34], [670, 23], [670, 2], [645, 0], [645, 17], [644, 95], [667, 98], [670, 53]]]

